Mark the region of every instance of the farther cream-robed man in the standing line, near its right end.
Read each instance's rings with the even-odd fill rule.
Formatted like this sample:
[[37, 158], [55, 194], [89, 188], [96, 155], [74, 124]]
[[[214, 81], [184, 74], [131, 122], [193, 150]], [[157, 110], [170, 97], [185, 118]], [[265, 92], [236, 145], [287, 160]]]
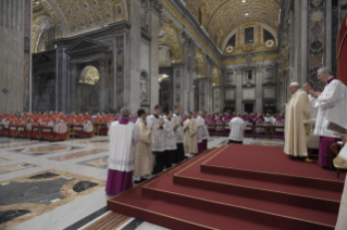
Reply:
[[198, 124], [191, 118], [191, 112], [187, 113], [187, 119], [184, 122], [184, 145], [185, 152], [190, 154], [198, 153]]

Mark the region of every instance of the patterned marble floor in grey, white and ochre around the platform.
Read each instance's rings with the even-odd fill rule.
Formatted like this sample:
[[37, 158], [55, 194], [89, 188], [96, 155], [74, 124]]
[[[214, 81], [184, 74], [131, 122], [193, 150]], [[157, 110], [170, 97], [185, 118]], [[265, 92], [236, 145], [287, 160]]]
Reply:
[[[211, 137], [208, 145], [226, 141]], [[283, 140], [244, 143], [282, 146]], [[111, 213], [104, 192], [108, 150], [108, 137], [54, 143], [0, 138], [0, 230], [92, 229]], [[119, 225], [110, 229], [165, 230], [128, 217]]]

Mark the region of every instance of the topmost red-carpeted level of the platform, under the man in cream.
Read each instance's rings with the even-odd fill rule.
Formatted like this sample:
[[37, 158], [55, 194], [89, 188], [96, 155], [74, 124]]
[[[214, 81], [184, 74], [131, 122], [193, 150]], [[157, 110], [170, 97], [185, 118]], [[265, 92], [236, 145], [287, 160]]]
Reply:
[[231, 144], [201, 164], [201, 171], [342, 192], [344, 177], [318, 164], [289, 159], [283, 148]]

